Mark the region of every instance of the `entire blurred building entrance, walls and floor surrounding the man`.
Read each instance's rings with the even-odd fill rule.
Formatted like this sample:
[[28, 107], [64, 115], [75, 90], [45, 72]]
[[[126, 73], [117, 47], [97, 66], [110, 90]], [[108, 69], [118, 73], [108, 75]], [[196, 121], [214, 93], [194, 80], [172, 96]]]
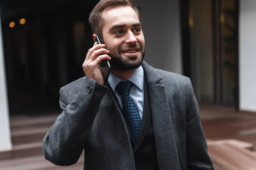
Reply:
[[[134, 1], [145, 61], [192, 81], [216, 169], [256, 170], [256, 0]], [[0, 170], [65, 169], [44, 160], [42, 140], [59, 89], [84, 76], [98, 2], [0, 1]], [[66, 168], [82, 169], [83, 154]]]

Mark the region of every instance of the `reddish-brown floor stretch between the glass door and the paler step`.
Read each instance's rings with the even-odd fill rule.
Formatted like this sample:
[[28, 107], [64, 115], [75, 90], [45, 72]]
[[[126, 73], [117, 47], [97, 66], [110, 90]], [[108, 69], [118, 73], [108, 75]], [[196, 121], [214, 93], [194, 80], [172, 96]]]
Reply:
[[256, 113], [209, 106], [201, 106], [200, 113], [207, 139], [237, 139], [256, 146]]

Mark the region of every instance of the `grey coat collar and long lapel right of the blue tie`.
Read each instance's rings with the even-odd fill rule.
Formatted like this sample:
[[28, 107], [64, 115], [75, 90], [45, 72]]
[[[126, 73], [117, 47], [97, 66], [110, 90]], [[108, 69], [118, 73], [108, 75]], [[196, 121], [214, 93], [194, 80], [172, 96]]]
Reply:
[[180, 169], [175, 135], [172, 126], [172, 109], [169, 108], [164, 85], [159, 82], [161, 74], [156, 69], [143, 62], [148, 80], [148, 93], [151, 105], [152, 121], [154, 127], [157, 161], [159, 169]]

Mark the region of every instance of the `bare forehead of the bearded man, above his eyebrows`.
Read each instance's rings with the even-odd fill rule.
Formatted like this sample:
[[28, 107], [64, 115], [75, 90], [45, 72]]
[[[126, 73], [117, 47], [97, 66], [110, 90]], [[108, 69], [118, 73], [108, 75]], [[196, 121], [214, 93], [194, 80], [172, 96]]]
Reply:
[[140, 23], [138, 15], [130, 6], [106, 8], [102, 12], [102, 18], [105, 22], [104, 28], [110, 28], [116, 24], [132, 25], [134, 23]]

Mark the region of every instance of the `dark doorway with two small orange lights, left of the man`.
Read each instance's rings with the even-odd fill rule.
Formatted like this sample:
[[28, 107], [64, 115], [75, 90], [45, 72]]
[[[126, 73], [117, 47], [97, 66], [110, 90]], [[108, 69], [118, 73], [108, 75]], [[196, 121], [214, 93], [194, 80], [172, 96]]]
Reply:
[[0, 6], [10, 114], [59, 111], [59, 89], [84, 76], [94, 1], [8, 1]]

